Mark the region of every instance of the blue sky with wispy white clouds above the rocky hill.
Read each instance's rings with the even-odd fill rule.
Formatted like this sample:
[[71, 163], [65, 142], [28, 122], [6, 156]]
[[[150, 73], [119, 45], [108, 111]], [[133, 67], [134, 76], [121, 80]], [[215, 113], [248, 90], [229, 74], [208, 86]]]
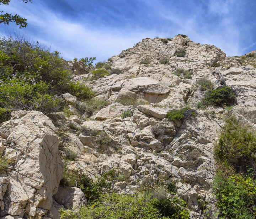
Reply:
[[27, 18], [14, 31], [74, 57], [107, 60], [143, 38], [186, 34], [214, 44], [227, 55], [256, 50], [256, 1], [252, 0], [11, 0], [0, 11]]

